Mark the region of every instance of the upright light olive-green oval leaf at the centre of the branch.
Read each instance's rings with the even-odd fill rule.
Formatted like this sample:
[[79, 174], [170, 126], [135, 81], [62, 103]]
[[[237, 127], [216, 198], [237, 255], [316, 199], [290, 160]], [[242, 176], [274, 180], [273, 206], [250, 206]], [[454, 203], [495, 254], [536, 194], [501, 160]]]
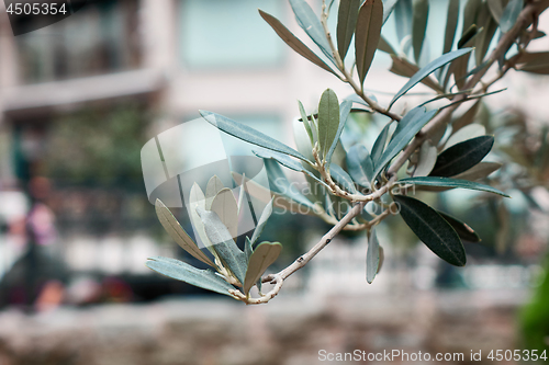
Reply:
[[318, 104], [318, 145], [321, 155], [326, 160], [327, 152], [334, 142], [339, 128], [339, 102], [332, 89], [321, 96]]

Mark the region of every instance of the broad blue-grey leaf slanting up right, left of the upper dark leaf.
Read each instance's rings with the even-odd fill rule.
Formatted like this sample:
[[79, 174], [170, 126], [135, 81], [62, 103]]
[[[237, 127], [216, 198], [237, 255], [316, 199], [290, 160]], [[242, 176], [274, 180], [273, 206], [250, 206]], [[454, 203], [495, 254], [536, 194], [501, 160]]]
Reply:
[[393, 138], [386, 146], [385, 151], [380, 157], [378, 162], [374, 162], [376, 170], [373, 175], [377, 178], [380, 172], [385, 168], [385, 166], [391, 162], [391, 160], [399, 155], [400, 151], [414, 138], [414, 136], [422, 130], [422, 128], [437, 114], [438, 110], [430, 112], [425, 112], [424, 107], [421, 107], [421, 112], [410, 111], [399, 123], [406, 124], [407, 127], [403, 128], [401, 133], [394, 134]]

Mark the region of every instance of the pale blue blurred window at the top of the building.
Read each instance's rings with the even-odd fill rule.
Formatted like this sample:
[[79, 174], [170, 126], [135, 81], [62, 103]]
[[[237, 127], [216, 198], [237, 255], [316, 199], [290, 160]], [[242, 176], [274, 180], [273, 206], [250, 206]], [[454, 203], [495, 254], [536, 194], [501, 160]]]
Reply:
[[280, 0], [181, 0], [180, 57], [192, 68], [273, 67], [284, 44], [257, 8], [279, 18]]

